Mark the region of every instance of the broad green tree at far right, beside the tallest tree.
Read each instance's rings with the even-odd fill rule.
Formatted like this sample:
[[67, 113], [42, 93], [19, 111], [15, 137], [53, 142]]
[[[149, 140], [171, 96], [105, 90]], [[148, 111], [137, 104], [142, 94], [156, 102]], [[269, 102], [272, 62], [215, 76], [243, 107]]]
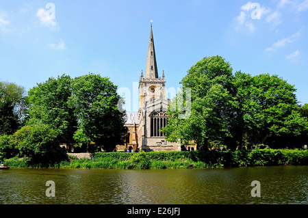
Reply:
[[246, 142], [283, 147], [306, 131], [307, 120], [298, 113], [294, 85], [277, 75], [251, 77], [236, 72], [233, 91], [235, 119], [230, 125], [231, 135], [238, 138], [240, 146]]

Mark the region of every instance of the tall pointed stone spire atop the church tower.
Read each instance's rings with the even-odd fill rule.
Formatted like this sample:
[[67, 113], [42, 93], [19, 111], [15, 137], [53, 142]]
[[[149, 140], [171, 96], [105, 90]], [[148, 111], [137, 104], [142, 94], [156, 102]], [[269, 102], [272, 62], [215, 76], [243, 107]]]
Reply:
[[153, 38], [153, 31], [152, 31], [152, 21], [151, 21], [151, 33], [150, 33], [150, 40], [149, 40], [148, 59], [146, 60], [146, 72], [145, 72], [144, 78], [146, 79], [158, 78], [155, 49], [154, 49], [154, 38]]

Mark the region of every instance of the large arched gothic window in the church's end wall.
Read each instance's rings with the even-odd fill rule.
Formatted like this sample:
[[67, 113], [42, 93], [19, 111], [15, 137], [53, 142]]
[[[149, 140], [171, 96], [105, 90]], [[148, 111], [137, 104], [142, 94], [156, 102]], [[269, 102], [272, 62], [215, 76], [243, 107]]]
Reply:
[[168, 115], [164, 111], [154, 112], [151, 115], [151, 137], [164, 137], [159, 129], [167, 126]]

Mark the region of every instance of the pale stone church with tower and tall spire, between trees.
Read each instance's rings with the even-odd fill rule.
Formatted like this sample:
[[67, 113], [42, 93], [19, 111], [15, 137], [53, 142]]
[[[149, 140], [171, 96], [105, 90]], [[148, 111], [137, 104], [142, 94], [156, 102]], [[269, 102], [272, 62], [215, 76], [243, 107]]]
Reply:
[[116, 149], [129, 151], [177, 151], [181, 144], [166, 141], [159, 129], [167, 125], [170, 99], [165, 97], [165, 74], [159, 77], [155, 56], [154, 38], [151, 23], [146, 70], [139, 79], [139, 108], [136, 113], [127, 113], [128, 133], [124, 145]]

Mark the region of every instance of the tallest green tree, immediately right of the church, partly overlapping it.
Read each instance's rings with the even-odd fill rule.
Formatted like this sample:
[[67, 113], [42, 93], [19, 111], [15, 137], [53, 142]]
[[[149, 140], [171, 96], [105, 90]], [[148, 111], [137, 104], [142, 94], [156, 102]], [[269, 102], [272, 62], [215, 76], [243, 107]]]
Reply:
[[206, 147], [209, 141], [226, 137], [231, 79], [232, 68], [220, 56], [205, 57], [192, 66], [180, 82], [183, 90], [191, 88], [190, 118], [180, 120], [179, 111], [169, 110], [170, 119], [163, 129], [167, 139], [194, 139], [199, 146]]

